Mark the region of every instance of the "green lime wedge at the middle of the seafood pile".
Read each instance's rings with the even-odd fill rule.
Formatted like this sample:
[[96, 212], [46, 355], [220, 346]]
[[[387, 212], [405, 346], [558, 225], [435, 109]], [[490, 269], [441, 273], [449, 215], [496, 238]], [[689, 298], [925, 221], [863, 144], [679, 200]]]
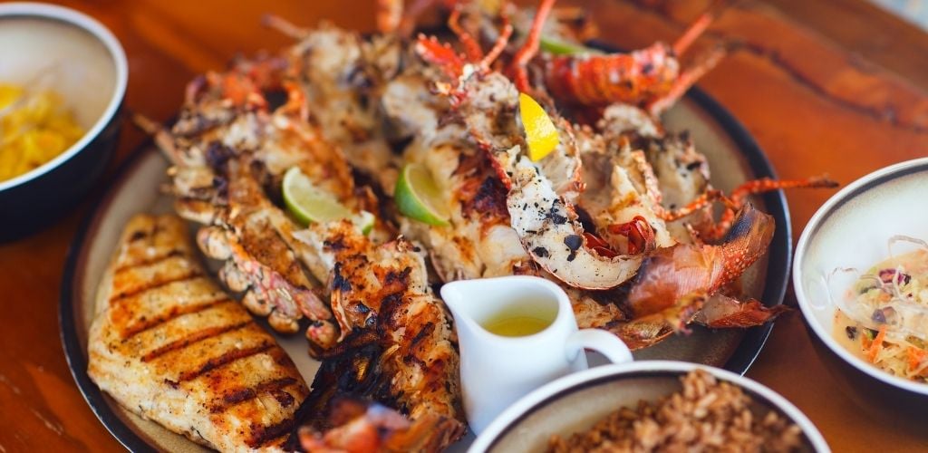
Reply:
[[433, 226], [448, 225], [449, 214], [441, 202], [438, 186], [435, 185], [429, 170], [418, 163], [408, 163], [403, 167], [393, 198], [406, 217]]

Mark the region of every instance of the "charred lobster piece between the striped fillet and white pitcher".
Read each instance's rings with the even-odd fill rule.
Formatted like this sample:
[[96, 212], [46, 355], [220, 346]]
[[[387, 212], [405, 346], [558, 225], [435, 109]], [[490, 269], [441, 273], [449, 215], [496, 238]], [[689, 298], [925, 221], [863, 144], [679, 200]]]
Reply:
[[[331, 306], [344, 336], [316, 375], [303, 447], [361, 442], [357, 436], [374, 433], [353, 428], [365, 426], [380, 427], [380, 440], [368, 441], [390, 451], [437, 451], [457, 440], [464, 434], [458, 351], [419, 246], [402, 238], [377, 245], [350, 222], [311, 226], [297, 237], [333, 263]], [[386, 409], [346, 420], [337, 415], [340, 395], [378, 402], [406, 422], [381, 425]]]

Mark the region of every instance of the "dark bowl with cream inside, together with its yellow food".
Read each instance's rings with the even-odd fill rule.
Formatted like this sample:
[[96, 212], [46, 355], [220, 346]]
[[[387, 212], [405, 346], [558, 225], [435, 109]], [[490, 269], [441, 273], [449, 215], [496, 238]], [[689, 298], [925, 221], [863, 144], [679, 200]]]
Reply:
[[127, 79], [122, 45], [96, 19], [0, 5], [0, 240], [69, 213], [102, 175]]

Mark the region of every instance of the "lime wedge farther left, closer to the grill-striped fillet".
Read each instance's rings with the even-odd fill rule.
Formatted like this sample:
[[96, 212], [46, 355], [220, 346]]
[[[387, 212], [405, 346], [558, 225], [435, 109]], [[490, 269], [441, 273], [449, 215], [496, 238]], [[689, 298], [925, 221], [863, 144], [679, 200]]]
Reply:
[[350, 219], [364, 234], [374, 226], [374, 214], [367, 211], [353, 213], [331, 193], [317, 188], [299, 167], [290, 168], [284, 175], [283, 193], [288, 211], [303, 225]]

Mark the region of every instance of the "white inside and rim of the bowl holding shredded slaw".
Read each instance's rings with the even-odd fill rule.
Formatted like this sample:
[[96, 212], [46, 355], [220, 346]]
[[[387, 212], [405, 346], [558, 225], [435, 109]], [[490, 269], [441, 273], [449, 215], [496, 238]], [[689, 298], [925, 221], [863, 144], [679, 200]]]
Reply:
[[[834, 339], [836, 307], [824, 278], [838, 268], [865, 270], [883, 261], [889, 256], [888, 242], [893, 236], [928, 239], [926, 203], [928, 158], [888, 166], [858, 179], [826, 201], [809, 220], [796, 247], [793, 287], [809, 330], [834, 356], [875, 380], [861, 393], [869, 393], [874, 383], [882, 382], [928, 396], [928, 384], [877, 369]], [[905, 247], [899, 245], [894, 251], [904, 252]], [[832, 282], [831, 292], [840, 296], [835, 292], [837, 287]], [[844, 370], [836, 369], [835, 373], [843, 374]]]

